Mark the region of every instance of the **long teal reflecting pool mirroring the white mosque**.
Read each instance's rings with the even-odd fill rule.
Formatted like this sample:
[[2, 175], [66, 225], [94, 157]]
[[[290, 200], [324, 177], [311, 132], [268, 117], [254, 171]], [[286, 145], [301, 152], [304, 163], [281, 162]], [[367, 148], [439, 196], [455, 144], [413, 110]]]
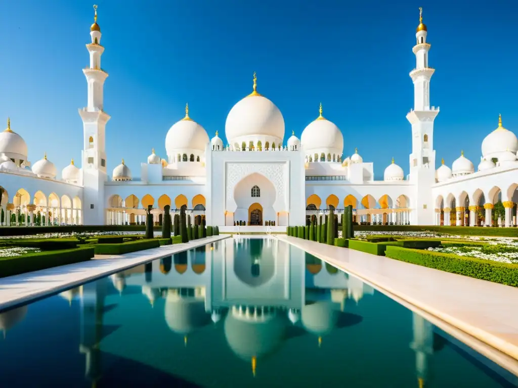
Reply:
[[[361, 280], [228, 239], [0, 314], [3, 387], [512, 387]], [[1, 338], [1, 337], [0, 337]]]

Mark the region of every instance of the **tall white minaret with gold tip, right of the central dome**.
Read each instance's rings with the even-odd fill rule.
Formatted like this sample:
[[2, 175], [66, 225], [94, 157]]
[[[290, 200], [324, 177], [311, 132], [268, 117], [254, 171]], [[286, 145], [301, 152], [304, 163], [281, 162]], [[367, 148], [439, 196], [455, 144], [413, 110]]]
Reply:
[[415, 33], [415, 69], [410, 72], [414, 83], [414, 109], [407, 114], [412, 125], [410, 180], [415, 184], [415, 203], [411, 204], [412, 225], [432, 225], [434, 206], [431, 185], [435, 183], [434, 120], [439, 108], [430, 107], [430, 79], [435, 69], [428, 67], [430, 44], [426, 43], [427, 28], [423, 9], [419, 8], [419, 25]]

